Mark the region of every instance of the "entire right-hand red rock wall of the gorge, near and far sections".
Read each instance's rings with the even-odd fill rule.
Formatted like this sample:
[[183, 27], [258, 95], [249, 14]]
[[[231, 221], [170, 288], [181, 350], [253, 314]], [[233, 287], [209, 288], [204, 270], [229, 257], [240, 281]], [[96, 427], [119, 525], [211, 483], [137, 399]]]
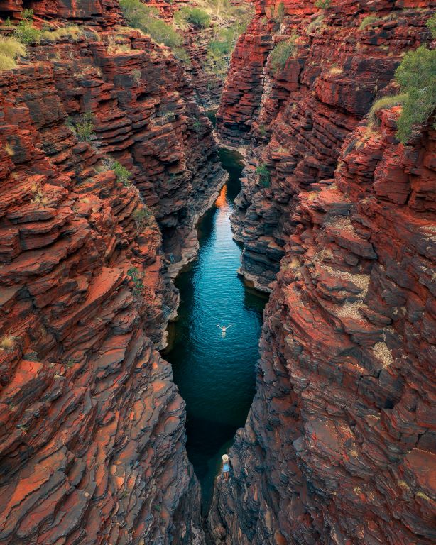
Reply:
[[[313, 7], [286, 3], [277, 30], [258, 4], [219, 113], [222, 135], [257, 144], [234, 227], [244, 274], [272, 293], [216, 544], [436, 539], [436, 131], [399, 144], [399, 107], [360, 122], [401, 51], [429, 40], [431, 3], [332, 4], [303, 38]], [[300, 37], [277, 72], [268, 28]]]

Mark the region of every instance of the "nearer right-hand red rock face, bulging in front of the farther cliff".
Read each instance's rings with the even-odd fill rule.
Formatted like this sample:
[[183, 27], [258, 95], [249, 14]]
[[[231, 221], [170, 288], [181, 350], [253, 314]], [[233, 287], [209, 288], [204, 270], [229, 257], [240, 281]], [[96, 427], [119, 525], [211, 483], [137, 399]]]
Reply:
[[436, 132], [398, 145], [397, 116], [296, 197], [217, 544], [435, 539]]

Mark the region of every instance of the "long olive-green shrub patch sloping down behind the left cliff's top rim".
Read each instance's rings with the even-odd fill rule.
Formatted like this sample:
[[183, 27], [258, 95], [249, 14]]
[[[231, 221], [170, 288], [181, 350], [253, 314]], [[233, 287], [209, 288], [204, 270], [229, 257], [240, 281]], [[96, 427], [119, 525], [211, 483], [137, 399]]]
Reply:
[[156, 9], [144, 6], [140, 0], [120, 0], [119, 4], [129, 26], [139, 28], [156, 42], [164, 43], [173, 50], [180, 48], [183, 43], [182, 36], [171, 25], [157, 17]]

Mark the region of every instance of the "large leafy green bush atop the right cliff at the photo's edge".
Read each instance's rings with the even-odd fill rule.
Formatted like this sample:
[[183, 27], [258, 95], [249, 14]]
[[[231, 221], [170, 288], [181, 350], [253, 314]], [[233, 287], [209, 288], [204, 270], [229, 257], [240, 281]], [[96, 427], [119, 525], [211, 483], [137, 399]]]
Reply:
[[422, 125], [436, 108], [436, 50], [421, 45], [406, 53], [395, 72], [403, 93], [403, 111], [398, 119], [397, 138], [406, 143], [414, 125]]

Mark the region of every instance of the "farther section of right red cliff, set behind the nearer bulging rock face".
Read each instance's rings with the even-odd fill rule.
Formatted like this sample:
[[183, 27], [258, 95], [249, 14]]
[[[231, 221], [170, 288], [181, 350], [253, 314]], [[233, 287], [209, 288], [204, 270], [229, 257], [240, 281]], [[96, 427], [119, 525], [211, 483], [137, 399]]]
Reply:
[[[352, 1], [333, 4], [319, 11], [285, 2], [282, 23], [277, 5], [256, 4], [217, 115], [224, 141], [250, 147], [232, 221], [244, 242], [241, 272], [266, 291], [292, 232], [293, 195], [332, 177], [346, 136], [376, 97], [392, 94], [386, 86], [405, 50], [430, 40], [428, 3], [421, 3], [427, 9], [392, 9], [383, 1], [359, 9]], [[294, 52], [277, 67], [271, 51], [288, 40]], [[268, 189], [259, 166], [268, 172]]]

